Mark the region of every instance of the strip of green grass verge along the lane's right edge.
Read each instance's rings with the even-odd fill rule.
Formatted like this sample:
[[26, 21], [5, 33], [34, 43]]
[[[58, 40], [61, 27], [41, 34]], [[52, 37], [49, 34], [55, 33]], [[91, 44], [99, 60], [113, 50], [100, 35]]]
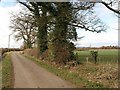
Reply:
[[29, 60], [34, 61], [39, 66], [47, 69], [48, 71], [54, 73], [55, 75], [61, 77], [62, 79], [73, 83], [76, 87], [89, 87], [89, 88], [104, 87], [100, 83], [88, 81], [84, 77], [80, 77], [79, 74], [77, 74], [76, 72], [71, 72], [69, 69], [66, 69], [66, 68], [59, 69], [59, 67], [57, 67], [55, 65], [51, 65], [49, 63], [40, 61], [38, 59], [35, 59], [34, 57], [26, 56], [26, 55], [25, 55], [25, 57], [28, 58]]

